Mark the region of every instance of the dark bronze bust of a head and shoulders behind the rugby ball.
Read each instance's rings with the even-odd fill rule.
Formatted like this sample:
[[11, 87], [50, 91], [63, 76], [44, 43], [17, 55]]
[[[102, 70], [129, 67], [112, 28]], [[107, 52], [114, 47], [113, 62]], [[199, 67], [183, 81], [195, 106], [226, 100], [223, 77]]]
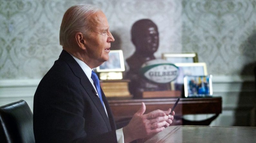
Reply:
[[135, 98], [140, 98], [143, 91], [167, 90], [166, 84], [150, 82], [143, 75], [139, 74], [139, 70], [145, 62], [156, 59], [154, 53], [159, 45], [159, 34], [156, 24], [149, 19], [138, 20], [132, 26], [131, 36], [136, 51], [126, 60], [130, 68], [126, 74], [126, 77], [130, 79], [130, 93]]

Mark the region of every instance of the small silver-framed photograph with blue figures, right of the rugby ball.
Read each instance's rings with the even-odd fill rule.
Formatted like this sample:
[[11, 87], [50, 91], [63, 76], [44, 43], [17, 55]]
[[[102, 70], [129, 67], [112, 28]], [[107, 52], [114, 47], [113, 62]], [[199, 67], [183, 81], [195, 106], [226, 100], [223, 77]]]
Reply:
[[184, 90], [185, 97], [211, 97], [213, 95], [212, 75], [185, 76]]

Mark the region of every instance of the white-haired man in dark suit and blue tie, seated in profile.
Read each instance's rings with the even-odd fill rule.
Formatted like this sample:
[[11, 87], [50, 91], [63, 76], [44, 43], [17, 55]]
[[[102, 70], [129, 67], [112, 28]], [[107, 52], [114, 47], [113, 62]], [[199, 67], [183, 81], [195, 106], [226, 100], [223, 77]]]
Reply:
[[75, 5], [65, 12], [60, 28], [63, 50], [34, 95], [37, 143], [131, 142], [172, 123], [170, 109], [144, 114], [142, 103], [128, 125], [116, 128], [103, 91], [94, 85], [92, 70], [108, 60], [113, 41], [107, 18], [98, 8]]

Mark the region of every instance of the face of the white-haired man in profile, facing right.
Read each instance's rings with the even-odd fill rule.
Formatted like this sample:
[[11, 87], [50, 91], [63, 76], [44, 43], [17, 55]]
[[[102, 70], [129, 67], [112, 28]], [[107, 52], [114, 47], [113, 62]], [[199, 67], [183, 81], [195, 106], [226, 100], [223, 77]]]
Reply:
[[109, 59], [110, 42], [115, 41], [109, 31], [105, 14], [101, 11], [90, 16], [89, 33], [85, 36], [85, 48], [88, 59], [96, 67]]

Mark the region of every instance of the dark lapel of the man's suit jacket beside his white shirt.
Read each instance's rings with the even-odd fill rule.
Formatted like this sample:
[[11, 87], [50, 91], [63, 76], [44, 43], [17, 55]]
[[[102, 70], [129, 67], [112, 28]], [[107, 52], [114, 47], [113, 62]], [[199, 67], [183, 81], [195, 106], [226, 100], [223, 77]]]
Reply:
[[[88, 77], [85, 75], [84, 71], [82, 70], [82, 68], [79, 66], [79, 64], [75, 61], [75, 59], [66, 51], [62, 50], [62, 53], [60, 55], [61, 60], [64, 60], [71, 68], [71, 70], [73, 71], [74, 75], [76, 75], [77, 77], [80, 78], [80, 83], [83, 86], [84, 90], [88, 93], [88, 95], [90, 96], [90, 99], [92, 100], [92, 102], [94, 103], [94, 105], [97, 107], [97, 109], [99, 110], [101, 116], [103, 117], [109, 131], [111, 131], [111, 126], [109, 123], [109, 119], [108, 116], [106, 115], [105, 109], [102, 106], [99, 97], [97, 96], [97, 94], [95, 93], [95, 90], [93, 88], [93, 86], [91, 85]], [[103, 93], [103, 91], [102, 91]], [[104, 95], [105, 97], [105, 95]], [[103, 101], [104, 104], [106, 104], [108, 101]], [[107, 112], [111, 112], [111, 110], [107, 109]], [[112, 114], [112, 113], [111, 113]]]

